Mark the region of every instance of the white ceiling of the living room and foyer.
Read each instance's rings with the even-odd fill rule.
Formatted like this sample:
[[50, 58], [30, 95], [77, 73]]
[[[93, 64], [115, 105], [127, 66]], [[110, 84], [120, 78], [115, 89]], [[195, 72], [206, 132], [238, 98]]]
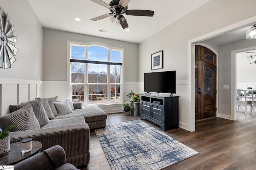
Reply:
[[[110, 17], [91, 21], [92, 18], [111, 13], [108, 8], [91, 0], [28, 1], [45, 28], [140, 43], [209, 0], [131, 0], [128, 4], [128, 10], [154, 11], [153, 17], [124, 14], [131, 31], [125, 31], [121, 25], [112, 23], [109, 20]], [[102, 1], [109, 4], [111, 0]], [[81, 21], [75, 21], [75, 17], [80, 18]], [[245, 25], [240, 29], [212, 38], [210, 41], [215, 45], [222, 45], [245, 39], [245, 33], [251, 26], [252, 24]], [[107, 31], [104, 33], [100, 32], [99, 29]]]

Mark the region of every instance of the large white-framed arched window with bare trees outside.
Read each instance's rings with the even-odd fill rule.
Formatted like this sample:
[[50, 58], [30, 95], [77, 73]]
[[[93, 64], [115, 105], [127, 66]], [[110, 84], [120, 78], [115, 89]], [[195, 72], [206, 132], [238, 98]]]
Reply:
[[70, 43], [70, 94], [83, 105], [120, 104], [122, 50]]

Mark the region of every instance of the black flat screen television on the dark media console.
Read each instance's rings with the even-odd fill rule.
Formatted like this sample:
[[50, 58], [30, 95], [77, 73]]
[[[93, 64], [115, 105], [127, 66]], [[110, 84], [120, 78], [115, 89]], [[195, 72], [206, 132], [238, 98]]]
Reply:
[[144, 91], [176, 93], [176, 70], [144, 73]]

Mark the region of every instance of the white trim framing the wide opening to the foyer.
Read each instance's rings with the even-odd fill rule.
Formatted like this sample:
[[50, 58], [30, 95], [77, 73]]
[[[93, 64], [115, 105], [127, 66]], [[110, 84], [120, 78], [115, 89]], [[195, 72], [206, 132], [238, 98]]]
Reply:
[[[228, 31], [232, 31], [233, 29], [242, 27], [243, 25], [247, 25], [250, 23], [254, 23], [256, 21], [256, 16], [253, 16], [251, 18], [247, 18], [245, 20], [239, 21], [237, 23], [228, 25], [226, 27], [222, 27], [218, 30], [212, 31], [210, 33], [206, 33], [204, 35], [201, 35], [199, 37], [195, 37], [193, 39], [188, 40], [188, 95], [190, 96], [190, 99], [188, 103], [190, 103], [190, 111], [191, 113], [188, 115], [188, 131], [195, 131], [195, 43], [198, 43], [200, 41], [204, 41], [207, 39], [211, 39], [213, 37], [217, 37], [218, 35], [222, 35]], [[207, 46], [206, 46], [207, 47]], [[218, 68], [217, 68], [218, 72]], [[217, 75], [217, 82], [218, 82], [218, 75]], [[231, 88], [234, 88], [233, 82], [230, 84]], [[218, 88], [218, 83], [217, 83]], [[218, 95], [218, 91], [217, 91]], [[218, 108], [218, 96], [216, 96], [216, 106]], [[230, 98], [230, 101], [233, 101], [233, 98]], [[231, 102], [231, 109], [234, 109], [233, 102]], [[218, 117], [218, 109], [216, 111], [216, 117]]]

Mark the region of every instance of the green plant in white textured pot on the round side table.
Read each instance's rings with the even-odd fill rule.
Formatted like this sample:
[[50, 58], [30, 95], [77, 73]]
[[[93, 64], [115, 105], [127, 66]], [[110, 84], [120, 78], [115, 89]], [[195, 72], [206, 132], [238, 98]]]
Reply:
[[5, 154], [6, 152], [9, 152], [10, 150], [10, 135], [9, 131], [13, 127], [18, 125], [10, 125], [6, 129], [2, 130], [0, 129], [0, 155]]

